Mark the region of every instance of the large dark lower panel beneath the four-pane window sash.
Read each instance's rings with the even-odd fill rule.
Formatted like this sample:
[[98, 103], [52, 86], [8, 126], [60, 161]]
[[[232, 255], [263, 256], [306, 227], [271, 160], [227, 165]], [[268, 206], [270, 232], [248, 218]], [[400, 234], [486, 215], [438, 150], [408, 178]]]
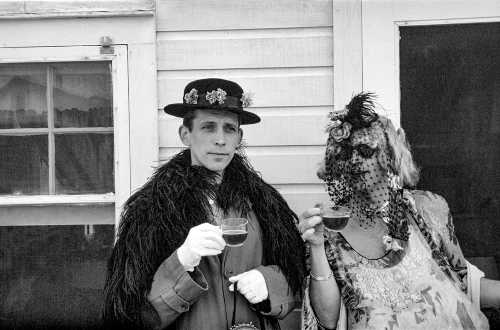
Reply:
[[0, 226], [2, 329], [98, 329], [114, 225]]

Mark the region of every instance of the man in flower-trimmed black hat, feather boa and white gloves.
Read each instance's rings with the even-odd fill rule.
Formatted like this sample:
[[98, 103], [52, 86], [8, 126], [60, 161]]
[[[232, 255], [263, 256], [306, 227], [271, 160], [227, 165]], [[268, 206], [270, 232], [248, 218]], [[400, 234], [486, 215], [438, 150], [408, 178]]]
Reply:
[[[252, 94], [211, 78], [190, 82], [183, 96], [164, 110], [183, 118], [178, 133], [188, 148], [123, 206], [108, 261], [104, 323], [279, 329], [277, 319], [293, 310], [304, 284], [305, 250], [297, 216], [242, 150], [240, 125], [260, 121], [246, 111]], [[248, 220], [241, 246], [227, 247], [222, 238], [219, 224], [228, 217]]]

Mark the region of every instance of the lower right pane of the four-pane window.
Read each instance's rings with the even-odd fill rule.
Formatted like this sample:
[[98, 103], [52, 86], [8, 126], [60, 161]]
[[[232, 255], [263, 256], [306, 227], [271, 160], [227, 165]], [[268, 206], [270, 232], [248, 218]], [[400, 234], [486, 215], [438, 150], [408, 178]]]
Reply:
[[112, 133], [55, 134], [55, 194], [114, 192]]

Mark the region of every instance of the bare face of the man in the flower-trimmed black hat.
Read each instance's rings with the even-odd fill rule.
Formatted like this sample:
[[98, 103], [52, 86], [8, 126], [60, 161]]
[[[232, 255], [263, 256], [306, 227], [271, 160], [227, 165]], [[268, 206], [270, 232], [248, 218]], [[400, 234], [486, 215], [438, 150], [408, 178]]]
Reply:
[[196, 110], [192, 130], [182, 125], [179, 136], [190, 147], [191, 164], [222, 175], [241, 142], [238, 116], [229, 111]]

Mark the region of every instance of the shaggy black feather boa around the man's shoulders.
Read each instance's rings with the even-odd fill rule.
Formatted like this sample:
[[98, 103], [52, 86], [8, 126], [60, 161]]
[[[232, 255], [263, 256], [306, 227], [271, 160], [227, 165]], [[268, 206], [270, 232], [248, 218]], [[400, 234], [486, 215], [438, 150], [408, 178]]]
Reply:
[[190, 164], [190, 150], [179, 152], [125, 202], [104, 287], [102, 316], [108, 327], [147, 327], [144, 316], [156, 315], [146, 298], [154, 273], [191, 227], [209, 221], [207, 197], [243, 217], [255, 212], [264, 265], [278, 265], [293, 293], [301, 292], [305, 245], [295, 225], [297, 216], [283, 197], [238, 152], [219, 186], [216, 173]]

